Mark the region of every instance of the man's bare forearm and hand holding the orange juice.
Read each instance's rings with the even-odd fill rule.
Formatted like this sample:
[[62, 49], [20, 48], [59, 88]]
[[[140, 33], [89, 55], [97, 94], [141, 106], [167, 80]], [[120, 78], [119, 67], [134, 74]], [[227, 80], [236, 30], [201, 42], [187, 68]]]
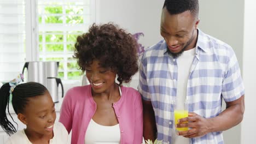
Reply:
[[[178, 128], [189, 127], [188, 131], [181, 131], [178, 135], [184, 137], [198, 137], [214, 131], [224, 131], [239, 124], [245, 111], [245, 96], [226, 102], [226, 109], [213, 118], [203, 118], [194, 112], [189, 112], [189, 117], [179, 120]], [[189, 122], [189, 123], [183, 123]]]

